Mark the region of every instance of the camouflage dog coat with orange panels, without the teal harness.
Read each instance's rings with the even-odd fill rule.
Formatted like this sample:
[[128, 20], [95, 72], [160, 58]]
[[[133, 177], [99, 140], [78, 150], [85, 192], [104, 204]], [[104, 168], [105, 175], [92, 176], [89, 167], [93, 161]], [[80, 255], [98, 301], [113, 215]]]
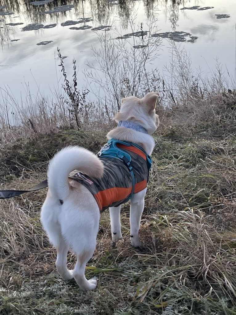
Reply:
[[[147, 187], [149, 170], [145, 154], [131, 152], [129, 148], [127, 146], [125, 151], [131, 156], [135, 178], [134, 193], [137, 193]], [[136, 152], [140, 151], [137, 150]], [[128, 167], [120, 159], [115, 157], [101, 157], [100, 159], [104, 164], [104, 175], [101, 179], [89, 177], [81, 172], [70, 175], [69, 178], [78, 181], [93, 194], [102, 212], [109, 207], [117, 207], [129, 201], [132, 192], [132, 177]]]

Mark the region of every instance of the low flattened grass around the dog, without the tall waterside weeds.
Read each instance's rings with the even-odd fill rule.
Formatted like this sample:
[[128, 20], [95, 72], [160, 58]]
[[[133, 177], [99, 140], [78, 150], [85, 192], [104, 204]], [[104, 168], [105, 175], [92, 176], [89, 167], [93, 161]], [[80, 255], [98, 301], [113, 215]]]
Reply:
[[[215, 121], [209, 111], [184, 124], [176, 117], [181, 111], [191, 116], [191, 107], [187, 112], [184, 106], [158, 106], [162, 125], [140, 229], [145, 247], [129, 243], [128, 204], [121, 213], [124, 243], [112, 244], [104, 212], [86, 270], [87, 278], [98, 278], [94, 292], [81, 292], [74, 280], [62, 281], [55, 271], [55, 251], [39, 221], [44, 190], [1, 200], [0, 313], [236, 314], [232, 104], [215, 103]], [[218, 119], [217, 108], [224, 118]], [[73, 129], [13, 141], [1, 150], [2, 187], [43, 180], [48, 159], [67, 144], [97, 152], [104, 142], [104, 132]], [[74, 263], [70, 253], [69, 268]]]

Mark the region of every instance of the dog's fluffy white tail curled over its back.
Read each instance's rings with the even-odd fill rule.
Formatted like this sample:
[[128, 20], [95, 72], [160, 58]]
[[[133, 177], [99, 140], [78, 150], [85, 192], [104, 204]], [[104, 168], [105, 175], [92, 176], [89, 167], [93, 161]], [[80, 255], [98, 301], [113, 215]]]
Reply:
[[79, 146], [68, 146], [54, 155], [48, 166], [48, 187], [50, 192], [61, 200], [70, 192], [68, 175], [73, 170], [88, 176], [103, 176], [103, 163], [92, 152]]

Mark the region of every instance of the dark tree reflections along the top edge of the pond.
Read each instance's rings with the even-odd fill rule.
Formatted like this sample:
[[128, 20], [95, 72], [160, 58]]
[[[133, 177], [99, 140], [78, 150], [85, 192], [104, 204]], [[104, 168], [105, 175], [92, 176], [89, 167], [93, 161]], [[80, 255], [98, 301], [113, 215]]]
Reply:
[[[6, 21], [6, 16], [8, 14], [13, 14], [12, 18], [20, 15], [21, 18], [27, 20], [27, 24], [45, 24], [50, 25], [50, 21], [59, 21], [61, 18], [67, 15], [67, 10], [74, 9], [75, 14], [79, 17], [85, 17], [87, 14], [85, 12], [85, 2], [90, 8], [89, 14], [93, 20], [97, 20], [100, 24], [106, 24], [114, 15], [117, 15], [122, 21], [122, 28], [126, 29], [128, 21], [131, 19], [131, 14], [135, 8], [135, 2], [139, 0], [73, 0], [73, 6], [70, 7], [69, 3], [71, 1], [66, 0], [46, 0], [46, 1], [34, 1], [32, 4], [28, 2], [29, 0], [0, 0], [0, 21]], [[30, 0], [31, 1], [31, 0]], [[189, 0], [190, 1], [190, 0]], [[188, 2], [188, 1], [187, 1]], [[38, 3], [42, 3], [38, 5]], [[147, 20], [150, 18], [151, 14], [157, 5], [165, 8], [166, 16], [172, 25], [172, 30], [175, 31], [180, 6], [186, 4], [184, 0], [145, 0], [143, 2], [144, 13]], [[64, 9], [60, 9], [60, 7]], [[55, 9], [56, 8], [56, 9]], [[59, 9], [58, 9], [59, 8]], [[4, 11], [3, 11], [4, 9]], [[51, 14], [44, 14], [51, 12]], [[14, 23], [6, 23], [3, 25], [16, 26], [24, 24], [22, 21]], [[9, 40], [9, 33], [14, 33], [14, 30], [9, 27], [3, 27], [1, 25], [1, 44], [7, 43]]]

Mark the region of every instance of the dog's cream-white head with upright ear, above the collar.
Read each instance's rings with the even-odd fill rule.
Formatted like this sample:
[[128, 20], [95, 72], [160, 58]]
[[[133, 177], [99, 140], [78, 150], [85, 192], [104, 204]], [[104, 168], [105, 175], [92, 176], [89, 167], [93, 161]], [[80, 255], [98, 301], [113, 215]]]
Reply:
[[114, 116], [118, 123], [120, 120], [128, 120], [143, 126], [149, 135], [153, 134], [159, 126], [159, 117], [155, 112], [155, 106], [159, 93], [151, 92], [143, 98], [136, 96], [125, 97], [121, 101], [121, 109]]

